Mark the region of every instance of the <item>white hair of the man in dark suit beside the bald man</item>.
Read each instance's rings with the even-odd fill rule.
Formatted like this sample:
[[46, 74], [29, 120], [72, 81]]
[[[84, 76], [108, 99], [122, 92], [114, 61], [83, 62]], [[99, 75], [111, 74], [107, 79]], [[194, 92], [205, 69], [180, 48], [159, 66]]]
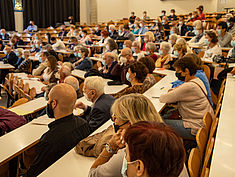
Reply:
[[97, 94], [104, 93], [104, 79], [99, 76], [87, 77], [84, 81], [84, 86], [88, 89], [95, 90]]

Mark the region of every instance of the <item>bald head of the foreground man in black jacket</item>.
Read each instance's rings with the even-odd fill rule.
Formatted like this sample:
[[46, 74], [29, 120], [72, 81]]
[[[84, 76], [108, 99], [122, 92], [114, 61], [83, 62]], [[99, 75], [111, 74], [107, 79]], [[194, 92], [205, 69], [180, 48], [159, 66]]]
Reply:
[[51, 89], [48, 98], [49, 103], [54, 100], [56, 102], [56, 104], [52, 102], [52, 108], [56, 118], [56, 115], [66, 116], [72, 114], [74, 104], [77, 100], [77, 94], [71, 85], [62, 83]]

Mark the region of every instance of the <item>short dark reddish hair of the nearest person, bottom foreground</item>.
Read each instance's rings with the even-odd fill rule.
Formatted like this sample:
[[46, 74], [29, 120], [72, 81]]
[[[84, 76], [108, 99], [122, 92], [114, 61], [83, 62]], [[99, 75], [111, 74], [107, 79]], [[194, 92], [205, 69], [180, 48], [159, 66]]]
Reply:
[[151, 177], [176, 177], [183, 170], [186, 153], [181, 137], [164, 123], [142, 121], [124, 135], [130, 161], [141, 160]]

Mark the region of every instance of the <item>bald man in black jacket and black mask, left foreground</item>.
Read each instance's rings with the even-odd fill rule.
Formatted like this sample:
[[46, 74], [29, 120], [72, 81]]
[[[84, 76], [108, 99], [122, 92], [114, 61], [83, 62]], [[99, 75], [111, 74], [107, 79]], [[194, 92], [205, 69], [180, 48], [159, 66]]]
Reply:
[[73, 115], [77, 97], [72, 86], [58, 84], [48, 98], [47, 115], [55, 121], [40, 138], [33, 164], [24, 177], [38, 176], [90, 134], [87, 122]]

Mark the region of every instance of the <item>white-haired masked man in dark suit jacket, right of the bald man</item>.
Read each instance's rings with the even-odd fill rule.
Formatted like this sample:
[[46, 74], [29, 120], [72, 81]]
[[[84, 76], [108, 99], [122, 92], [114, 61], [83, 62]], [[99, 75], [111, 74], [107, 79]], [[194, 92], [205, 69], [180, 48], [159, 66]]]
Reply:
[[104, 79], [98, 76], [87, 77], [84, 81], [83, 94], [93, 106], [77, 102], [75, 107], [84, 110], [83, 118], [87, 120], [93, 132], [111, 118], [110, 108], [114, 102], [111, 95], [104, 93]]

